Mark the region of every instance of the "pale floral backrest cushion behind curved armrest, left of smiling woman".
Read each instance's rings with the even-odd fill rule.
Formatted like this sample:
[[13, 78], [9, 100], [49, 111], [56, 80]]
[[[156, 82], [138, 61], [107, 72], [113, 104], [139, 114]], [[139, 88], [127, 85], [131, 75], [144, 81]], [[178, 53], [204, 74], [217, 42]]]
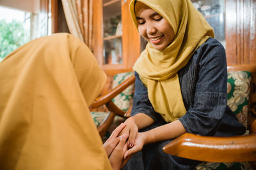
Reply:
[[[134, 73], [127, 72], [127, 73], [119, 73], [114, 76], [113, 80], [113, 89], [120, 85], [124, 80], [127, 80], [127, 78], [131, 77]], [[132, 105], [132, 97], [134, 94], [134, 83], [127, 87], [123, 92], [118, 94], [112, 101], [113, 103], [118, 106], [118, 108], [127, 111], [129, 107]]]

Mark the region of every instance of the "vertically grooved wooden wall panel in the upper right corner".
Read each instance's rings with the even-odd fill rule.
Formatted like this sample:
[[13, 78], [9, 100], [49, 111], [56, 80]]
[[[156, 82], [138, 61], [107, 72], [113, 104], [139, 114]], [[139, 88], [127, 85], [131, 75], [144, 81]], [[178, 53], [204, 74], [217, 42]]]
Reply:
[[256, 66], [256, 0], [226, 0], [228, 66]]

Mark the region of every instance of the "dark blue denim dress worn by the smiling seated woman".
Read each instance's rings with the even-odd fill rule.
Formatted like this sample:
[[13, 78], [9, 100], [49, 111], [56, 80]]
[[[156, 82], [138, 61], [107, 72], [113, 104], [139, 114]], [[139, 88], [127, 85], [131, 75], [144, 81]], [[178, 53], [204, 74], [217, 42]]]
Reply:
[[[214, 38], [207, 39], [178, 74], [182, 99], [187, 110], [179, 120], [187, 132], [202, 136], [244, 134], [245, 127], [227, 106], [227, 61], [225, 49], [220, 42]], [[135, 77], [131, 115], [145, 113], [154, 120], [154, 124], [140, 132], [167, 124], [154, 111], [148, 99], [147, 87], [136, 72]], [[141, 152], [136, 153], [123, 169], [193, 169], [200, 163], [164, 153], [163, 146], [170, 141], [172, 139], [143, 146]]]

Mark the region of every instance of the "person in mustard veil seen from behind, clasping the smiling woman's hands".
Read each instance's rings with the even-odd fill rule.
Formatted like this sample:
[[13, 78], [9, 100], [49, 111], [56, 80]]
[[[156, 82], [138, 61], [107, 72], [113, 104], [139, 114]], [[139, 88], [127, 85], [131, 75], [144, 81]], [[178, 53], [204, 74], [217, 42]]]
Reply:
[[106, 74], [70, 34], [20, 46], [0, 62], [0, 169], [120, 169], [121, 124], [104, 146], [88, 106]]

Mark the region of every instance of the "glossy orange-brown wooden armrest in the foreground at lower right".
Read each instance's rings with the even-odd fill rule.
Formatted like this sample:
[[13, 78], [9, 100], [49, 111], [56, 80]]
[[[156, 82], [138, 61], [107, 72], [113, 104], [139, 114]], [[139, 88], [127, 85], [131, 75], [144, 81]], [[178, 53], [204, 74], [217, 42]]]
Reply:
[[207, 162], [256, 161], [256, 134], [210, 137], [186, 133], [163, 150], [170, 155]]

